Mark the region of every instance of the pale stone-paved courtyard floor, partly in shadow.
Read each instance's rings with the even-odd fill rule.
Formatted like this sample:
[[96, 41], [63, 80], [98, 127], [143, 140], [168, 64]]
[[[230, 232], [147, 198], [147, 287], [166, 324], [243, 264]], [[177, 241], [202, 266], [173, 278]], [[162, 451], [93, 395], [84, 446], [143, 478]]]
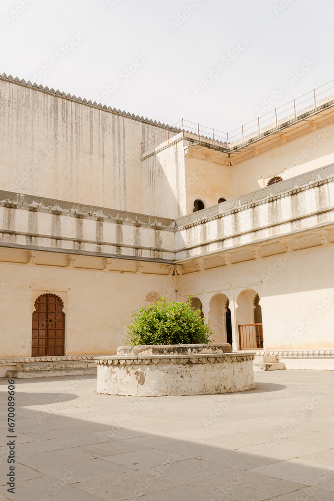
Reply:
[[221, 395], [96, 393], [95, 376], [16, 380], [16, 493], [0, 501], [333, 501], [334, 371], [255, 372]]

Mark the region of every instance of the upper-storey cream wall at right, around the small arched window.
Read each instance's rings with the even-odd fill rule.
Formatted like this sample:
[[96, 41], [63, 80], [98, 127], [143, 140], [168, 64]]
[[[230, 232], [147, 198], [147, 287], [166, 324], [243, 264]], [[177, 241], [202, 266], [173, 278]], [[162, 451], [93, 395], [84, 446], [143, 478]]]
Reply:
[[288, 179], [333, 163], [333, 141], [334, 124], [330, 124], [250, 160], [232, 165], [232, 197], [262, 188], [275, 175]]

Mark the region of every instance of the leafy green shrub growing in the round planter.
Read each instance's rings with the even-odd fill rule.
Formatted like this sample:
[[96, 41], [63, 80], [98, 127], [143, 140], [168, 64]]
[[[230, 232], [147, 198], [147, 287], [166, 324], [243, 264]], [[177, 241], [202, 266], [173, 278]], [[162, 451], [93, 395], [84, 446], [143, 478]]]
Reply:
[[173, 303], [160, 297], [152, 306], [142, 306], [129, 317], [127, 340], [131, 345], [169, 345], [210, 343], [212, 331], [193, 310], [191, 296], [186, 303]]

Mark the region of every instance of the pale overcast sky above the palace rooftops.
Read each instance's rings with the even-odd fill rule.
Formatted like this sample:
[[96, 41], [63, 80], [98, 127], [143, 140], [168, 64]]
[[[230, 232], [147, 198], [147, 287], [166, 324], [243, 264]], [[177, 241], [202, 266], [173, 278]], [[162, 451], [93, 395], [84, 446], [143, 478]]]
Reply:
[[334, 79], [333, 15], [329, 0], [2, 0], [0, 73], [230, 131]]

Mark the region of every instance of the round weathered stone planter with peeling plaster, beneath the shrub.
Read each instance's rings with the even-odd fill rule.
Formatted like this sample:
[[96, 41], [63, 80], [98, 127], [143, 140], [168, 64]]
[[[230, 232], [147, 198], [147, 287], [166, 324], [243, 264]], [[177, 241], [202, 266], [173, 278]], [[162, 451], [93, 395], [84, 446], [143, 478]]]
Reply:
[[96, 357], [97, 391], [111, 395], [204, 395], [255, 387], [254, 353], [229, 344], [121, 346]]

